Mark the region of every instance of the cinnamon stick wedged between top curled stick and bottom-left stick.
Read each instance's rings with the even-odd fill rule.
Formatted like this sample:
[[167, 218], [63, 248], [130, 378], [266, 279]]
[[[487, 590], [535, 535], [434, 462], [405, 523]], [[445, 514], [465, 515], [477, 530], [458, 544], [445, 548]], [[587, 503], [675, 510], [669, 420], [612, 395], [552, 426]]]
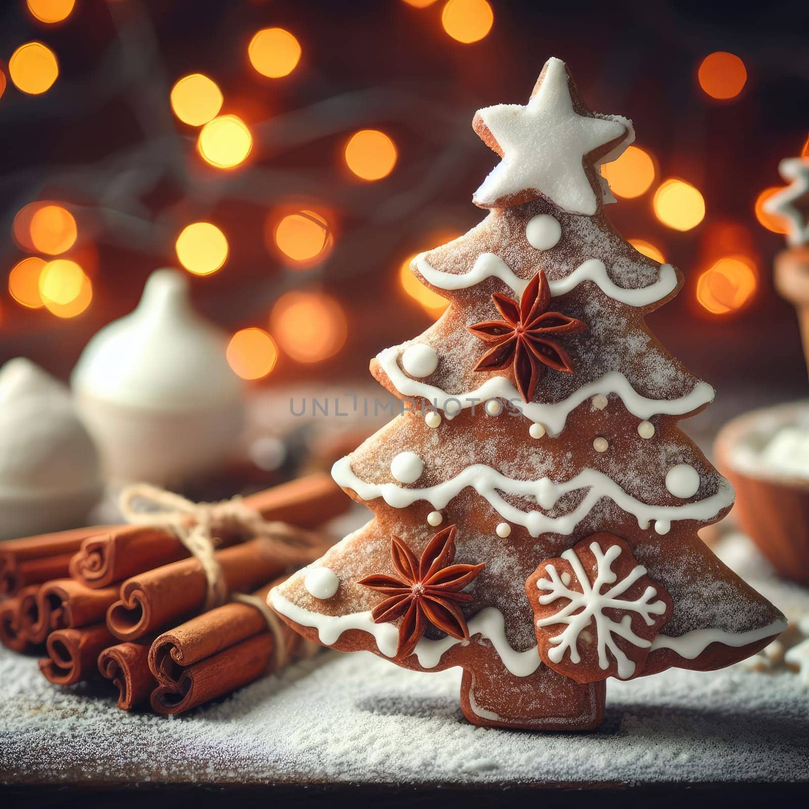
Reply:
[[117, 587], [93, 590], [72, 578], [57, 578], [43, 584], [34, 598], [22, 600], [20, 621], [32, 642], [43, 643], [54, 629], [104, 621], [108, 608], [117, 599]]

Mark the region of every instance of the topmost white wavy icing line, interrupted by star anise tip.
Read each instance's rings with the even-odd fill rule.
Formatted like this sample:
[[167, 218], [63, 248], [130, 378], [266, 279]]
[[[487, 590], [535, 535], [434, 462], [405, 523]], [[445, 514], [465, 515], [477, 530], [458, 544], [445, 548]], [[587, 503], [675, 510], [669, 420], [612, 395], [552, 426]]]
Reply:
[[[516, 294], [522, 294], [527, 281], [515, 275], [514, 271], [506, 264], [502, 258], [494, 253], [481, 253], [477, 261], [467, 273], [443, 273], [435, 269], [426, 260], [426, 253], [419, 253], [416, 256], [416, 269], [426, 278], [432, 286], [440, 290], [461, 290], [469, 286], [475, 286], [486, 278], [499, 278], [509, 286]], [[617, 286], [607, 274], [607, 267], [604, 261], [591, 258], [579, 265], [570, 275], [560, 278], [558, 281], [549, 281], [548, 285], [553, 296], [563, 295], [574, 289], [584, 281], [591, 281], [599, 289], [613, 300], [626, 303], [629, 306], [640, 307], [649, 306], [650, 303], [662, 300], [677, 288], [677, 273], [670, 264], [660, 267], [660, 277], [654, 284], [643, 286], [638, 290], [627, 290], [622, 286]]]

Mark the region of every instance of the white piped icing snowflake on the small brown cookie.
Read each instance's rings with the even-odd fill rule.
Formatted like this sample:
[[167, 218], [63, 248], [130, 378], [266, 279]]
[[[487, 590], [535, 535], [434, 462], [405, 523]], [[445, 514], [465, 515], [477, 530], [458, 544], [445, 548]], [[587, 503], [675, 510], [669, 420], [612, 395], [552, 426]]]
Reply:
[[[548, 618], [540, 618], [536, 621], [537, 626], [549, 626], [553, 624], [566, 624], [564, 631], [550, 639], [553, 648], [548, 651], [549, 659], [554, 663], [561, 663], [565, 652], [570, 650], [571, 663], [579, 663], [581, 657], [578, 654], [578, 638], [582, 631], [590, 625], [591, 619], [595, 620], [595, 630], [598, 640], [599, 667], [606, 669], [609, 667], [607, 651], [612, 653], [618, 664], [618, 676], [622, 680], [631, 677], [635, 672], [635, 663], [630, 660], [617, 646], [615, 637], [623, 637], [630, 643], [641, 648], [651, 646], [650, 641], [638, 637], [632, 631], [632, 616], [625, 615], [621, 622], [613, 621], [612, 618], [604, 614], [605, 608], [620, 609], [623, 611], [637, 612], [646, 621], [646, 625], [654, 625], [654, 618], [651, 616], [663, 615], [666, 612], [666, 604], [663, 601], [653, 601], [657, 595], [654, 587], [646, 587], [643, 595], [635, 600], [629, 601], [619, 599], [618, 596], [625, 593], [646, 574], [643, 565], [635, 565], [626, 578], [617, 582], [614, 587], [605, 593], [601, 592], [604, 585], [616, 582], [617, 575], [612, 572], [612, 562], [621, 556], [621, 548], [618, 545], [611, 545], [606, 553], [603, 553], [597, 542], [590, 545], [590, 550], [595, 556], [598, 574], [591, 584], [587, 574], [582, 567], [582, 562], [574, 553], [573, 549], [566, 550], [561, 554], [561, 558], [570, 562], [574, 574], [578, 579], [582, 592], [571, 590], [569, 587], [570, 576], [566, 573], [560, 575], [553, 565], [545, 568], [545, 573], [549, 574], [550, 581], [540, 578], [536, 582], [536, 587], [540, 590], [549, 591], [547, 595], [540, 596], [540, 604], [551, 604], [556, 599], [570, 599], [570, 604], [562, 608], [559, 612]], [[566, 581], [565, 581], [566, 580]]]

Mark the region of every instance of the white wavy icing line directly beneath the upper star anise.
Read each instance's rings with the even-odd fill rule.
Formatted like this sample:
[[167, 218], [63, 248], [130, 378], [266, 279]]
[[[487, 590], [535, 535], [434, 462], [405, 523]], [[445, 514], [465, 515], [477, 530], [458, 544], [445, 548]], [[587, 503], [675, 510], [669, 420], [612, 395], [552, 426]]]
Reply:
[[555, 404], [542, 402], [523, 402], [523, 397], [515, 388], [514, 383], [505, 376], [493, 376], [485, 381], [480, 388], [472, 391], [451, 395], [435, 385], [411, 379], [399, 367], [400, 346], [384, 349], [376, 358], [383, 371], [402, 396], [421, 396], [429, 400], [434, 406], [447, 412], [447, 402], [452, 402], [457, 409], [469, 408], [473, 404], [481, 404], [489, 399], [500, 398], [518, 407], [524, 416], [538, 424], [543, 424], [548, 434], [553, 438], [561, 433], [565, 427], [568, 413], [576, 409], [579, 404], [587, 401], [591, 396], [616, 393], [621, 397], [629, 413], [642, 419], [663, 414], [667, 416], [680, 416], [691, 413], [703, 404], [714, 400], [714, 388], [706, 382], [697, 382], [692, 392], [679, 399], [647, 399], [636, 393], [629, 383], [629, 379], [621, 371], [608, 371], [600, 379], [582, 385], [577, 391]]

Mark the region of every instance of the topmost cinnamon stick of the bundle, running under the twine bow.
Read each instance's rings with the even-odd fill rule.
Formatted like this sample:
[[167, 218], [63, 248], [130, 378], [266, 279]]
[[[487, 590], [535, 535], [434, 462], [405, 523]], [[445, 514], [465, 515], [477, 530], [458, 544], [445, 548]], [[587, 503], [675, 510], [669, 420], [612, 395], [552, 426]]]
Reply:
[[[345, 512], [348, 501], [324, 474], [309, 475], [273, 486], [244, 498], [247, 506], [269, 520], [311, 528]], [[220, 547], [238, 536], [218, 537]], [[113, 526], [83, 543], [70, 563], [70, 575], [87, 587], [108, 587], [113, 582], [188, 558], [188, 550], [172, 534], [158, 528]]]

